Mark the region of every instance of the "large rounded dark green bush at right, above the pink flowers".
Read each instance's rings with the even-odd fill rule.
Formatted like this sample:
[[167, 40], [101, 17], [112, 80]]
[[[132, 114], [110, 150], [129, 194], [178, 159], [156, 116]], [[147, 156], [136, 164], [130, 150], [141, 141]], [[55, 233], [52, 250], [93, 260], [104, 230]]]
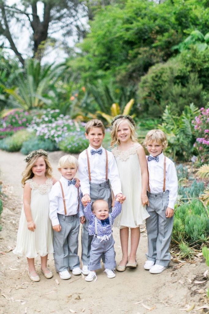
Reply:
[[149, 116], [160, 116], [166, 105], [177, 114], [191, 103], [200, 108], [209, 100], [208, 86], [209, 49], [184, 51], [166, 63], [155, 64], [142, 77], [139, 109]]

